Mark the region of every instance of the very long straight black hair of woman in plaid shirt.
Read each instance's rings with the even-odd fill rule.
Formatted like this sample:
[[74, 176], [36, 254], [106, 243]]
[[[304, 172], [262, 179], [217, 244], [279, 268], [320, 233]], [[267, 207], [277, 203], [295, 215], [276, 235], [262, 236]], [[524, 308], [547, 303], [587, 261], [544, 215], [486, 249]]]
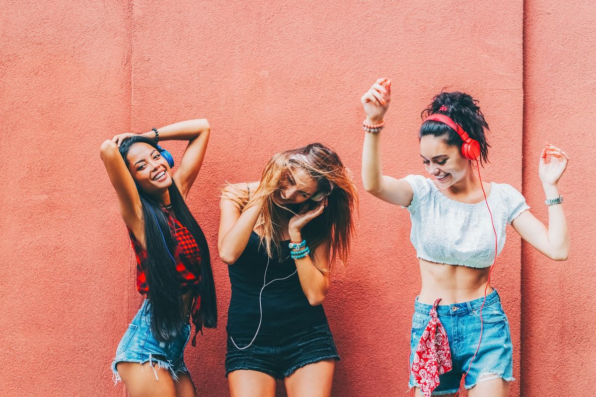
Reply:
[[[128, 151], [135, 143], [147, 143], [147, 145], [157, 149], [156, 143], [144, 136], [133, 136], [124, 140], [120, 145], [120, 155], [122, 155], [127, 165]], [[149, 286], [147, 298], [150, 303], [151, 332], [157, 340], [166, 342], [181, 332], [186, 318], [182, 291], [176, 279], [176, 265], [170, 257], [170, 252], [175, 252], [176, 241], [170, 232], [166, 215], [160, 203], [140, 189], [138, 185], [137, 190], [141, 198], [143, 221], [145, 223], [146, 276], [147, 285]], [[215, 328], [217, 326], [218, 311], [207, 239], [188, 210], [176, 183], [172, 181], [172, 185], [167, 190], [170, 193], [172, 211], [176, 219], [187, 227], [201, 251], [201, 282], [198, 290], [201, 323], [197, 326], [204, 325], [207, 328]], [[183, 256], [181, 255], [181, 257]]]

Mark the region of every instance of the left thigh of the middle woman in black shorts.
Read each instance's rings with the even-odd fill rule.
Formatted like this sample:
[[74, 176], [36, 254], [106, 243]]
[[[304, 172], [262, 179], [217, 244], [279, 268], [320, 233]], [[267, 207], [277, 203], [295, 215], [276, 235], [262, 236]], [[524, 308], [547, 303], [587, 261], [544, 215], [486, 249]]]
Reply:
[[230, 397], [275, 397], [275, 378], [259, 371], [236, 370], [228, 374]]

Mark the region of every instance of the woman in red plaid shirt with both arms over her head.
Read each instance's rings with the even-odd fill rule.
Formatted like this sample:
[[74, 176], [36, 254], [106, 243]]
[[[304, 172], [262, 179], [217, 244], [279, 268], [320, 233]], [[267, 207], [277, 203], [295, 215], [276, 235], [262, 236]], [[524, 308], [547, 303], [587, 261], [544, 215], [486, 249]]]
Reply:
[[[188, 140], [176, 174], [158, 140]], [[131, 397], [195, 396], [184, 347], [217, 309], [209, 248], [185, 199], [203, 163], [209, 123], [189, 120], [141, 135], [124, 133], [101, 145], [118, 207], [136, 254], [136, 289], [147, 299], [116, 349], [114, 380]]]

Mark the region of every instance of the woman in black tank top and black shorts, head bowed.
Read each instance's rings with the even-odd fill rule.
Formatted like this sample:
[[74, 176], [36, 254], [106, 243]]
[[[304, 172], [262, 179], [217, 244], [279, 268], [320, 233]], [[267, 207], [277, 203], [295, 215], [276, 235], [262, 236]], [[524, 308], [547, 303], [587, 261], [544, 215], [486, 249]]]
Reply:
[[226, 376], [232, 397], [330, 396], [339, 360], [322, 307], [347, 260], [356, 188], [320, 143], [278, 153], [260, 182], [224, 189], [219, 255], [229, 265]]

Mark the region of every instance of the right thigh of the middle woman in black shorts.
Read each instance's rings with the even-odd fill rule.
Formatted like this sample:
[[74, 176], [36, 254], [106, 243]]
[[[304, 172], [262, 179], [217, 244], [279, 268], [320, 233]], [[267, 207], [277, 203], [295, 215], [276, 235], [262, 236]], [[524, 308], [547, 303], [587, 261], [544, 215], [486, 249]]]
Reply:
[[285, 378], [288, 397], [329, 397], [335, 360], [324, 360], [298, 368]]

